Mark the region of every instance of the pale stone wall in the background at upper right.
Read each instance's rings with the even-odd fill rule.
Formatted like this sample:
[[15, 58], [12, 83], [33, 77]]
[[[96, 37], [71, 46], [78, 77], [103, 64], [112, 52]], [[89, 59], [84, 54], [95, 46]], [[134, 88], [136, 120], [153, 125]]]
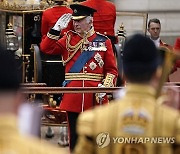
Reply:
[[[159, 18], [162, 24], [161, 37], [173, 45], [177, 36], [180, 36], [180, 0], [111, 0], [115, 3], [117, 11], [148, 13], [148, 19]], [[121, 21], [121, 19], [123, 21]], [[121, 23], [125, 23], [127, 35], [134, 28], [141, 28], [141, 19], [118, 17], [116, 31]]]

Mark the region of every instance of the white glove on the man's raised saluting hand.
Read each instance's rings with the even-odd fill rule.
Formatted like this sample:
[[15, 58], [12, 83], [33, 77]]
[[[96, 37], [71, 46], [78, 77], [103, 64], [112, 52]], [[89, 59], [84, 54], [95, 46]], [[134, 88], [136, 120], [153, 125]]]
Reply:
[[52, 29], [57, 30], [57, 31], [61, 31], [62, 29], [65, 29], [71, 20], [71, 16], [72, 16], [72, 14], [70, 14], [70, 13], [63, 14], [57, 20], [57, 22], [55, 23], [55, 25]]

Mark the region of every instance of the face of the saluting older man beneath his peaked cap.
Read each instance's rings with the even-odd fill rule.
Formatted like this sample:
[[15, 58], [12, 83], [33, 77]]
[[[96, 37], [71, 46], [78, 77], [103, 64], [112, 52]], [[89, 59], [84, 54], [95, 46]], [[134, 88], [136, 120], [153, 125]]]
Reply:
[[91, 28], [91, 21], [87, 21], [86, 18], [81, 20], [73, 20], [74, 30], [83, 35], [85, 32], [89, 31]]

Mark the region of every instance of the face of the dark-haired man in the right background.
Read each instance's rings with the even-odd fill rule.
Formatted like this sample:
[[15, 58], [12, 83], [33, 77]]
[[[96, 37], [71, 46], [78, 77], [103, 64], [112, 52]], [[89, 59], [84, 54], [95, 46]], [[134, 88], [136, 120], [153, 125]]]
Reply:
[[156, 40], [159, 38], [160, 31], [161, 31], [161, 25], [160, 24], [155, 23], [155, 22], [150, 23], [148, 32], [150, 33], [151, 38], [153, 40]]

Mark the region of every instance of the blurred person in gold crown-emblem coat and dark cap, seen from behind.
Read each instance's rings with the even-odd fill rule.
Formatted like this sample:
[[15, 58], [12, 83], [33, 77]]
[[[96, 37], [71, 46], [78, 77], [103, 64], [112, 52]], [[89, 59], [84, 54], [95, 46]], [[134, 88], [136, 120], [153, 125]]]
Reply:
[[179, 153], [179, 113], [156, 101], [161, 59], [154, 43], [140, 34], [124, 47], [125, 96], [78, 119], [75, 154]]

